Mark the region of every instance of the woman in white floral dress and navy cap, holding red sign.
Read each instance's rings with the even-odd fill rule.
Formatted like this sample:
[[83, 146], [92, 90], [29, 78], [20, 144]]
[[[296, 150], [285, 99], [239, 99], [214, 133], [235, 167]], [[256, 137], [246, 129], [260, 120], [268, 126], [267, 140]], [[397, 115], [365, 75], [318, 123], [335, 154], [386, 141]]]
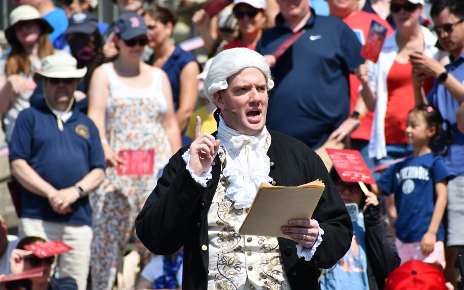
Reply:
[[[115, 31], [119, 56], [95, 69], [89, 88], [88, 115], [99, 130], [108, 166], [106, 180], [90, 196], [93, 289], [114, 285], [136, 215], [181, 146], [168, 78], [140, 61], [147, 43], [143, 19], [122, 14]], [[147, 260], [149, 252], [139, 246], [142, 261]]]

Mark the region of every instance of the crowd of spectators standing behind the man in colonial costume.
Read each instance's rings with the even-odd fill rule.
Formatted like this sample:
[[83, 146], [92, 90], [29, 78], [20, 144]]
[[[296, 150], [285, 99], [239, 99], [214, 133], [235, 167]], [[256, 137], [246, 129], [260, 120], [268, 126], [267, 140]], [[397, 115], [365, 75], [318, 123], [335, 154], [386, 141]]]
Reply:
[[[3, 0], [0, 12], [0, 275], [43, 265], [25, 288], [181, 287], [182, 249], [153, 257], [134, 221], [194, 138], [195, 117], [216, 131], [202, 93], [212, 58], [247, 47], [274, 78], [268, 129], [306, 143], [329, 170], [325, 148], [358, 150], [377, 168], [366, 197], [332, 170], [364, 222], [353, 220], [356, 248], [321, 271], [321, 288], [388, 287], [400, 260], [432, 265], [431, 288], [461, 288], [461, 1]], [[361, 56], [372, 21], [386, 37], [375, 63]], [[48, 260], [24, 251], [54, 239], [74, 250]]]

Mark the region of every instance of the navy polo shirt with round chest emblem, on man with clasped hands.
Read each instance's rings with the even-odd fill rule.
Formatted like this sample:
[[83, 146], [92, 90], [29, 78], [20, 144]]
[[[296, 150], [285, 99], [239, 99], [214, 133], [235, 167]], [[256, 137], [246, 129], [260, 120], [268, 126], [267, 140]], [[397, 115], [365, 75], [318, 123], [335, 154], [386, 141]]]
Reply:
[[[15, 123], [10, 149], [10, 162], [24, 159], [45, 181], [56, 189], [73, 186], [93, 168], [105, 170], [105, 156], [98, 130], [77, 108], [58, 130], [57, 118], [45, 102], [21, 111]], [[21, 188], [22, 218], [76, 225], [92, 223], [88, 197], [72, 204], [72, 213], [58, 214], [46, 198]]]

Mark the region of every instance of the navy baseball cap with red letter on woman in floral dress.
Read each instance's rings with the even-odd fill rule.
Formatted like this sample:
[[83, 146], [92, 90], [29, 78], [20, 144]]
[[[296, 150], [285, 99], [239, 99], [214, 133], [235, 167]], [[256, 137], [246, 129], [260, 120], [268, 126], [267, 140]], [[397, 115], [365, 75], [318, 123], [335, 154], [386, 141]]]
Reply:
[[142, 16], [131, 12], [119, 16], [114, 32], [123, 40], [129, 40], [139, 35], [146, 35], [148, 31]]

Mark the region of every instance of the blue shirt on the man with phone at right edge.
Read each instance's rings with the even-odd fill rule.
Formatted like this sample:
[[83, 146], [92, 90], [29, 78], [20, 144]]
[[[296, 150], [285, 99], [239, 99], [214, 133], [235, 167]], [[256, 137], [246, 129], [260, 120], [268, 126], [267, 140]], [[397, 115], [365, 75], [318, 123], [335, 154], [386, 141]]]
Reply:
[[[464, 54], [460, 55], [457, 59], [451, 58], [451, 63], [446, 66], [446, 70], [458, 81], [464, 83]], [[451, 139], [451, 144], [445, 156], [446, 167], [451, 175], [462, 176], [464, 175], [464, 166], [462, 166], [462, 160], [464, 160], [464, 134], [457, 129], [456, 122], [456, 112], [459, 108], [459, 103], [443, 84], [436, 81], [432, 90], [427, 95], [427, 101], [438, 108], [443, 118], [451, 124], [454, 136]]]

